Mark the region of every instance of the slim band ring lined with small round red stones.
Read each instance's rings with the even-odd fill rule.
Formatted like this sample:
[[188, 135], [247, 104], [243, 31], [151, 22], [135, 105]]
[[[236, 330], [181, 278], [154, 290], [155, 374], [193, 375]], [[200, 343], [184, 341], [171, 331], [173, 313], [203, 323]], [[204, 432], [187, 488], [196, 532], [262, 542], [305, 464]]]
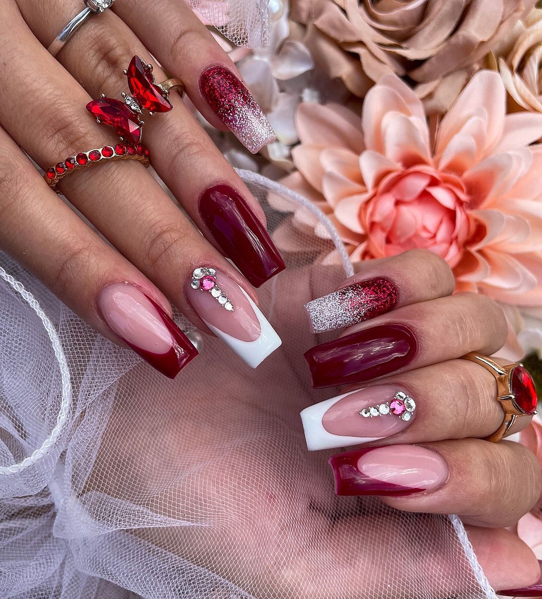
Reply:
[[149, 150], [142, 144], [116, 144], [115, 146], [104, 146], [100, 149], [89, 150], [88, 152], [80, 152], [75, 156], [66, 158], [65, 161], [59, 162], [54, 167], [48, 168], [45, 171], [44, 179], [49, 183], [50, 187], [58, 193], [57, 183], [67, 174], [78, 170], [82, 167], [89, 167], [93, 164], [107, 160], [137, 160], [143, 163], [146, 168], [150, 166]]

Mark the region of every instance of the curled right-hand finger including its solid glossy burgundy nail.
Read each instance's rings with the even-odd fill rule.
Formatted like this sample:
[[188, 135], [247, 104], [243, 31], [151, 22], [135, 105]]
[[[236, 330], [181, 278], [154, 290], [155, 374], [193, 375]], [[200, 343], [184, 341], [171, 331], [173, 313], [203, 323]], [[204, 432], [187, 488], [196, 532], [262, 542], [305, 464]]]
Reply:
[[476, 294], [456, 294], [398, 308], [311, 347], [305, 359], [316, 388], [364, 383], [396, 372], [460, 358], [491, 355], [504, 344], [501, 308]]

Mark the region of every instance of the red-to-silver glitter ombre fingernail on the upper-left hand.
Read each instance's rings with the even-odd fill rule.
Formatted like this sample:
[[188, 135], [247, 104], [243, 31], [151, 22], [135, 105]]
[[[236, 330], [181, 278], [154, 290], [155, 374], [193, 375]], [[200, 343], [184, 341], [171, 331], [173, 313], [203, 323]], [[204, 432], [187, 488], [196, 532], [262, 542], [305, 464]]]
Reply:
[[199, 78], [207, 104], [247, 150], [255, 154], [275, 140], [270, 122], [243, 83], [225, 66], [210, 66]]

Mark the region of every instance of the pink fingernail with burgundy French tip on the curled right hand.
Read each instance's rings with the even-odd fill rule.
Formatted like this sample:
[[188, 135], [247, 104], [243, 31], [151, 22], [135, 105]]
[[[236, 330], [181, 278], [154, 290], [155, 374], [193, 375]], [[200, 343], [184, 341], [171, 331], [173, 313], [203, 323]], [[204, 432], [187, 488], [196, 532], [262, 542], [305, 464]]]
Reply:
[[416, 445], [338, 453], [329, 464], [337, 495], [411, 495], [435, 491], [448, 478], [444, 458]]

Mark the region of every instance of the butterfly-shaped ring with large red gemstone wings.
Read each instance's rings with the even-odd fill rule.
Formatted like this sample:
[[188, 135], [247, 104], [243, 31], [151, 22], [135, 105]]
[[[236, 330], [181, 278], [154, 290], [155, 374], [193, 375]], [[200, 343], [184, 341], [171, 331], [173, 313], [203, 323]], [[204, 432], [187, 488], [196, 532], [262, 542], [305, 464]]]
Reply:
[[167, 79], [156, 83], [152, 65], [148, 65], [139, 56], [132, 58], [128, 69], [128, 87], [132, 95], [122, 93], [123, 101], [106, 98], [104, 95], [87, 104], [87, 110], [96, 117], [98, 123], [109, 125], [120, 135], [121, 141], [138, 144], [141, 141], [142, 119], [144, 111], [153, 116], [166, 113], [173, 106], [169, 101], [169, 91], [177, 89], [184, 95], [184, 84], [178, 79]]

